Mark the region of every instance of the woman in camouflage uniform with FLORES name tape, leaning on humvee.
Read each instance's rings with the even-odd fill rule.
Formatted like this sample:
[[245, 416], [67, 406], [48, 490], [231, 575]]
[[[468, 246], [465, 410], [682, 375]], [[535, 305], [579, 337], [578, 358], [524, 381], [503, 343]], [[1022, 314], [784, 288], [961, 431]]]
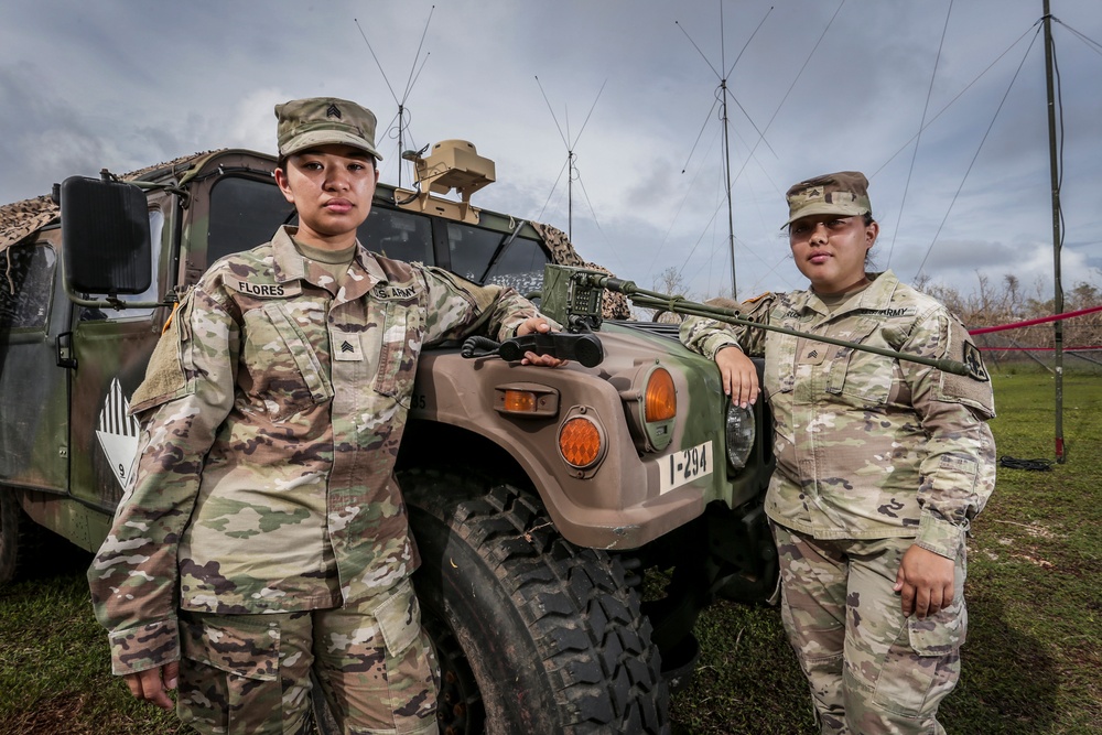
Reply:
[[550, 326], [511, 290], [357, 241], [379, 175], [369, 110], [276, 115], [299, 227], [216, 262], [171, 320], [132, 399], [141, 451], [88, 573], [96, 614], [134, 696], [169, 709], [179, 678], [201, 732], [305, 732], [313, 669], [345, 732], [435, 733], [392, 474], [418, 355]]

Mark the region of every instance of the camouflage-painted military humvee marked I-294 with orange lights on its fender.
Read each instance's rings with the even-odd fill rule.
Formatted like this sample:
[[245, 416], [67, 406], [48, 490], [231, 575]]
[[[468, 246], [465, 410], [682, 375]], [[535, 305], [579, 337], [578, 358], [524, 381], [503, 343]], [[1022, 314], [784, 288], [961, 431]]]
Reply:
[[[521, 293], [548, 264], [595, 268], [553, 227], [474, 207], [495, 171], [469, 143], [407, 158], [417, 185], [378, 187], [369, 248]], [[33, 568], [43, 533], [99, 547], [138, 446], [128, 400], [172, 304], [292, 221], [274, 165], [220, 150], [3, 207], [0, 583]], [[442, 732], [668, 732], [700, 610], [776, 590], [768, 412], [724, 404], [715, 365], [620, 299], [591, 322], [592, 367], [421, 356], [398, 472]]]

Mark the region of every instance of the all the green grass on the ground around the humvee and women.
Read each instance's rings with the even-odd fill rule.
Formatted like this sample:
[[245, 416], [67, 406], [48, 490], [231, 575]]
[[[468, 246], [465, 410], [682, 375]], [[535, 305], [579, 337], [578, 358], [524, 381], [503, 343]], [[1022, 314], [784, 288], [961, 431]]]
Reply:
[[[1001, 456], [1052, 456], [1052, 378], [996, 375]], [[1102, 378], [1063, 381], [1068, 462], [1000, 468], [969, 542], [969, 639], [950, 733], [1096, 733], [1102, 723]], [[109, 674], [83, 566], [0, 590], [0, 735], [183, 733]], [[676, 735], [811, 734], [810, 699], [776, 609], [720, 603], [698, 625]]]

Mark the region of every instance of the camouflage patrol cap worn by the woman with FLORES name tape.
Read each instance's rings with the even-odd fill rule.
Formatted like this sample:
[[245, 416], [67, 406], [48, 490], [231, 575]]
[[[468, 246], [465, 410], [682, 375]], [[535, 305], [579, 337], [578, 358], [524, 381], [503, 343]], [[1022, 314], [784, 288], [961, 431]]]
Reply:
[[292, 99], [276, 106], [279, 120], [279, 156], [331, 143], [365, 150], [382, 160], [375, 149], [375, 114], [356, 102], [336, 97]]

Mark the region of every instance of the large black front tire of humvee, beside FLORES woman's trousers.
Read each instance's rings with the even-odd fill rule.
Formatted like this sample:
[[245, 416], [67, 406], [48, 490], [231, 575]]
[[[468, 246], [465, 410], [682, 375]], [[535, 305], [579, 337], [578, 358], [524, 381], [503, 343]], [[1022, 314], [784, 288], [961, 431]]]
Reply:
[[566, 542], [509, 485], [421, 469], [399, 480], [441, 732], [669, 733], [650, 623], [618, 561]]

